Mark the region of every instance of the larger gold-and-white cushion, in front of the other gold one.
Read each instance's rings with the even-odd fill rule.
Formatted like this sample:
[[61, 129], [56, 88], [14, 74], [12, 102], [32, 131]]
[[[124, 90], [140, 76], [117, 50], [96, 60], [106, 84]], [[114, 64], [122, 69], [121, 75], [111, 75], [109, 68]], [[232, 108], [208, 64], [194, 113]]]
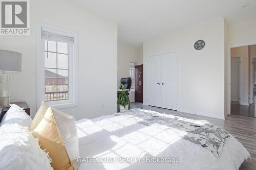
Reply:
[[49, 153], [55, 170], [78, 168], [79, 147], [73, 116], [49, 107], [32, 134], [39, 139], [41, 149]]

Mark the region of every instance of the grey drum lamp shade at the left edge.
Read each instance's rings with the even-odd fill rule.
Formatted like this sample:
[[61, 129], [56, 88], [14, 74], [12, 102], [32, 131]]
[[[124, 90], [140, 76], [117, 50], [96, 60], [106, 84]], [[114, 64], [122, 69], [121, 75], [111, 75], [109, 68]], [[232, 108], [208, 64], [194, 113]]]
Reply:
[[0, 70], [11, 72], [22, 71], [22, 54], [0, 50]]

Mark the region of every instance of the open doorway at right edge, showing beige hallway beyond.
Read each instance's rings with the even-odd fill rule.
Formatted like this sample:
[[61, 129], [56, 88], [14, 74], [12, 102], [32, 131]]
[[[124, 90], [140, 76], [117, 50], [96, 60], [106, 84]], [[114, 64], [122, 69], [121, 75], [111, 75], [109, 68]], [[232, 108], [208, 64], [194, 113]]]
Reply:
[[256, 117], [256, 45], [230, 48], [230, 114]]

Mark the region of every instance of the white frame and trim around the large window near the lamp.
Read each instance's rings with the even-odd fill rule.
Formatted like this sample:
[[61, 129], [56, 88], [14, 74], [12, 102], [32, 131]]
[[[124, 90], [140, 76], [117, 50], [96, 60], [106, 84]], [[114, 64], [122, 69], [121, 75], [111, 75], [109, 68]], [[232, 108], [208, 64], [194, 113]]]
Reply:
[[78, 106], [77, 33], [41, 22], [37, 22], [36, 107], [38, 109], [41, 106], [41, 101], [45, 101], [45, 40], [41, 38], [42, 28], [44, 28], [44, 30], [49, 29], [50, 32], [55, 34], [74, 38], [74, 44], [69, 45], [69, 50], [73, 52], [72, 54], [69, 54], [69, 99], [48, 101], [46, 103], [57, 109], [76, 107]]

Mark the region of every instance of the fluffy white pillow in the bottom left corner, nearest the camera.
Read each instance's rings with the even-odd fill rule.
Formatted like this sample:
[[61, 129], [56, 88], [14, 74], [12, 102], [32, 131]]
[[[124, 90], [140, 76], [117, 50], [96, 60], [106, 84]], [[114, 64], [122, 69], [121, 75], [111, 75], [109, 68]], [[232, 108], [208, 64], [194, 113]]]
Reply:
[[0, 169], [53, 170], [48, 153], [42, 151], [27, 127], [5, 124], [0, 127]]

